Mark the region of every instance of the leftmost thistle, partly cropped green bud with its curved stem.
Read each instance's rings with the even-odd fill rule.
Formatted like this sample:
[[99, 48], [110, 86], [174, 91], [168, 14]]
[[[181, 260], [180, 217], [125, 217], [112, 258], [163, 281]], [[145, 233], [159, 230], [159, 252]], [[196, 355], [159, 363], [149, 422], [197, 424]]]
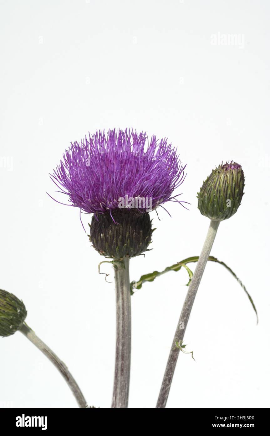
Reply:
[[17, 331], [20, 331], [29, 339], [43, 354], [54, 364], [60, 374], [63, 376], [73, 395], [75, 396], [79, 407], [87, 407], [86, 400], [70, 374], [67, 366], [57, 357], [55, 353], [46, 345], [35, 332], [24, 322], [27, 316], [27, 310], [17, 296], [0, 289], [0, 336], [7, 337]]

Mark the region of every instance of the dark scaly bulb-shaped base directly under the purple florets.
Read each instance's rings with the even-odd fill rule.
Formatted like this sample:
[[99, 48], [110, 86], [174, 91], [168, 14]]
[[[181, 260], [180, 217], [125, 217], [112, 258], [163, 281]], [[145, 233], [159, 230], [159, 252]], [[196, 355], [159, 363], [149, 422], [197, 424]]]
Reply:
[[153, 233], [148, 212], [118, 209], [93, 216], [90, 241], [101, 255], [113, 259], [133, 257], [147, 251]]

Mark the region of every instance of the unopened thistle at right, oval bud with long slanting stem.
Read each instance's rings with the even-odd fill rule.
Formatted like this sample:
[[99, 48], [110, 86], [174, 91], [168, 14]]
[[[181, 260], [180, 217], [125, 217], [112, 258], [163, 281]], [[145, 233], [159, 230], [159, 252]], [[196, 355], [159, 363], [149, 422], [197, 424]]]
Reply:
[[160, 388], [157, 408], [164, 408], [166, 406], [174, 370], [181, 349], [179, 344], [183, 343], [190, 312], [207, 260], [209, 259], [218, 226], [220, 221], [230, 218], [237, 212], [243, 197], [243, 189], [244, 174], [242, 167], [236, 162], [231, 161], [230, 163], [221, 164], [215, 170], [212, 170], [212, 173], [207, 177], [206, 181], [203, 182], [200, 192], [198, 193], [198, 208], [202, 215], [210, 218], [210, 226], [177, 324]]

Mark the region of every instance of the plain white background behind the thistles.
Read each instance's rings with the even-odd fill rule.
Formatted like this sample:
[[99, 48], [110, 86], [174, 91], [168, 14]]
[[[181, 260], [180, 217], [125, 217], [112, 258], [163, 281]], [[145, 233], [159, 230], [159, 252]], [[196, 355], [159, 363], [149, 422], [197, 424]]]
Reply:
[[[79, 210], [47, 196], [63, 201], [48, 173], [71, 140], [133, 126], [178, 147], [187, 178], [176, 194], [191, 206], [167, 204], [172, 218], [160, 208], [161, 221], [151, 213], [153, 251], [131, 260], [131, 280], [200, 253], [209, 220], [196, 195], [215, 165], [236, 160], [246, 176], [211, 254], [243, 280], [259, 325], [237, 281], [208, 264], [184, 341], [196, 363], [180, 354], [167, 407], [269, 407], [269, 9], [267, 0], [0, 2], [0, 287], [23, 299], [27, 324], [90, 405], [110, 407], [114, 285], [97, 272], [103, 259]], [[214, 45], [218, 32], [240, 44]], [[113, 281], [111, 266], [102, 270]], [[186, 282], [184, 270], [169, 272], [132, 297], [130, 407], [155, 407]], [[0, 372], [1, 407], [77, 406], [20, 333], [0, 341]]]

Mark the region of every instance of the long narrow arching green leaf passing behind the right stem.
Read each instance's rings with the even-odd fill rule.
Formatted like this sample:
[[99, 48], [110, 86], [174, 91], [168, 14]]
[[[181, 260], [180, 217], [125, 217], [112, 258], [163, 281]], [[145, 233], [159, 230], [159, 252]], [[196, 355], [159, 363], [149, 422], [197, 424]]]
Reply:
[[[181, 262], [177, 262], [177, 263], [175, 263], [175, 264], [172, 265], [172, 266], [167, 266], [167, 268], [165, 268], [165, 269], [164, 269], [163, 271], [161, 271], [161, 272], [159, 272], [159, 271], [153, 271], [153, 272], [151, 272], [150, 274], [144, 274], [143, 276], [140, 277], [140, 279], [139, 279], [137, 282], [136, 282], [135, 280], [133, 280], [133, 282], [130, 283], [130, 293], [131, 293], [131, 295], [134, 293], [134, 291], [133, 291], [134, 289], [141, 289], [143, 283], [145, 283], [145, 282], [153, 282], [153, 280], [154, 280], [156, 277], [162, 276], [163, 274], [165, 274], [165, 272], [168, 272], [168, 271], [176, 271], [176, 272], [177, 272], [177, 271], [179, 271], [179, 270], [182, 268], [182, 266], [183, 266], [185, 269], [187, 269], [187, 272], [188, 272], [188, 274], [189, 274], [190, 279], [189, 279], [189, 281], [188, 281], [188, 283], [187, 283], [187, 286], [189, 286], [189, 285], [190, 285], [190, 282], [191, 282], [191, 279], [192, 279], [192, 276], [193, 276], [193, 272], [188, 268], [187, 263], [198, 262], [198, 259], [199, 259], [199, 256], [188, 257], [187, 259], [183, 259], [183, 260], [181, 260]], [[235, 274], [235, 272], [233, 272], [233, 270], [230, 269], [230, 267], [227, 266], [226, 263], [224, 263], [224, 262], [218, 260], [216, 257], [213, 257], [213, 256], [209, 256], [208, 260], [211, 261], [211, 262], [217, 262], [217, 263], [219, 263], [220, 265], [225, 266], [225, 268], [226, 268], [226, 269], [227, 269], [227, 270], [228, 270], [228, 271], [233, 275], [233, 277], [234, 277], [235, 279], [237, 279], [237, 282], [240, 283], [240, 286], [243, 288], [244, 292], [245, 292], [245, 293], [247, 294], [247, 296], [248, 296], [248, 299], [250, 300], [250, 303], [252, 304], [253, 310], [254, 310], [255, 313], [256, 313], [257, 324], [258, 324], [258, 313], [257, 313], [257, 309], [256, 309], [256, 307], [255, 307], [255, 304], [253, 303], [253, 300], [252, 300], [250, 294], [247, 292], [246, 286], [243, 285], [243, 283], [242, 283], [241, 280], [237, 277], [237, 275]]]

